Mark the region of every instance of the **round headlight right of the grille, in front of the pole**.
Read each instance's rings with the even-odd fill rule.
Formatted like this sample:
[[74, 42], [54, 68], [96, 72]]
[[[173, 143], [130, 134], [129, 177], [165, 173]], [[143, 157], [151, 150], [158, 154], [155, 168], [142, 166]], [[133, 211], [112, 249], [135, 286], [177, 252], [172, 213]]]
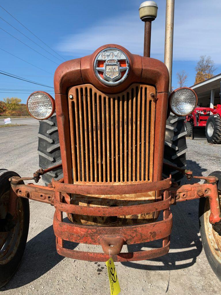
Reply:
[[169, 97], [171, 112], [177, 116], [187, 116], [197, 106], [197, 94], [188, 87], [174, 90]]

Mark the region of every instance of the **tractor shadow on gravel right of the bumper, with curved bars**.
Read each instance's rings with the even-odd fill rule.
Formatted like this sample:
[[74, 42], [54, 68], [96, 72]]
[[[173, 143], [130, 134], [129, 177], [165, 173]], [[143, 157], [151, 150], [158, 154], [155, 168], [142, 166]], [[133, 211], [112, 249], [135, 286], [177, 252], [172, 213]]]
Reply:
[[[202, 176], [206, 169], [191, 160], [187, 160], [187, 168], [193, 171], [193, 175]], [[181, 184], [199, 182], [200, 180], [187, 181], [182, 180]], [[197, 256], [202, 251], [202, 242], [199, 233], [198, 221], [199, 200], [177, 203], [171, 206], [173, 214], [173, 228], [171, 233], [170, 251], [165, 256], [151, 259], [151, 263], [141, 264], [137, 262], [123, 262], [122, 264], [131, 268], [152, 271], [178, 270], [192, 266]], [[145, 248], [145, 246], [148, 249]], [[162, 247], [161, 241], [153, 241], [145, 244], [128, 245], [128, 252], [149, 250], [149, 248]], [[156, 262], [156, 264], [154, 263]]]

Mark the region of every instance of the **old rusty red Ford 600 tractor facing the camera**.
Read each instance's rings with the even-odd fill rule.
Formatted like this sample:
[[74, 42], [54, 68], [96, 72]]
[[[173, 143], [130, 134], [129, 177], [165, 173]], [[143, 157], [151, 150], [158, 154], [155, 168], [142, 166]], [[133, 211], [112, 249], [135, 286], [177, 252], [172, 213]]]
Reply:
[[[183, 118], [195, 109], [197, 95], [187, 87], [170, 94], [174, 1], [167, 1], [166, 7], [165, 63], [150, 58], [151, 22], [158, 7], [154, 1], [145, 1], [139, 9], [145, 22], [144, 56], [120, 45], [103, 45], [57, 68], [55, 100], [43, 91], [29, 96], [29, 114], [43, 122], [39, 156], [45, 155], [48, 162], [27, 177], [0, 169], [0, 286], [9, 281], [22, 259], [29, 200], [54, 206], [53, 229], [60, 255], [103, 262], [111, 256], [128, 262], [167, 254], [170, 207], [199, 199], [203, 247], [221, 280], [221, 172], [194, 176], [185, 168]], [[48, 121], [51, 129], [47, 130], [43, 124], [47, 126]], [[172, 132], [178, 130], [181, 133], [171, 140]], [[179, 186], [172, 181], [174, 171], [204, 183]], [[48, 185], [37, 185], [46, 175]], [[177, 173], [173, 175], [179, 179]], [[156, 240], [161, 243], [151, 250], [137, 245]], [[100, 252], [93, 247], [76, 250], [71, 246], [75, 242], [99, 245]], [[133, 250], [122, 251], [123, 245], [134, 244]]]

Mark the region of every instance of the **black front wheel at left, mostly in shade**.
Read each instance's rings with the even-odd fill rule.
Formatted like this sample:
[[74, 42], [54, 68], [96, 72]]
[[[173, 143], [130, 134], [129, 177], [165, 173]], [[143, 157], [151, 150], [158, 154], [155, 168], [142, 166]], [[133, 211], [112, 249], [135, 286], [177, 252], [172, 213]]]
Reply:
[[22, 259], [29, 230], [29, 200], [18, 198], [15, 224], [6, 222], [9, 203], [9, 178], [17, 173], [0, 169], [0, 287], [4, 286], [16, 271]]

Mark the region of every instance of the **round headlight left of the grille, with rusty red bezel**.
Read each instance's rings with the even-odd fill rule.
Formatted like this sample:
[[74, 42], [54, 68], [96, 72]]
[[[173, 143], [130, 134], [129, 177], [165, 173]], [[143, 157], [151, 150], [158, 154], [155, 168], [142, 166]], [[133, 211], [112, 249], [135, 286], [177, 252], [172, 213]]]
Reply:
[[35, 119], [48, 119], [55, 112], [55, 100], [46, 92], [33, 92], [27, 100], [27, 110]]

